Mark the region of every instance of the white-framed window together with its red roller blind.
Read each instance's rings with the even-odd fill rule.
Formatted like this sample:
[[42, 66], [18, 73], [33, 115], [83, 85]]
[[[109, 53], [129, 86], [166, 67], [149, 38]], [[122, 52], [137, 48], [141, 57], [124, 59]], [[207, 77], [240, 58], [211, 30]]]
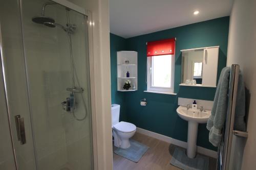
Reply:
[[147, 91], [174, 94], [176, 38], [147, 42]]

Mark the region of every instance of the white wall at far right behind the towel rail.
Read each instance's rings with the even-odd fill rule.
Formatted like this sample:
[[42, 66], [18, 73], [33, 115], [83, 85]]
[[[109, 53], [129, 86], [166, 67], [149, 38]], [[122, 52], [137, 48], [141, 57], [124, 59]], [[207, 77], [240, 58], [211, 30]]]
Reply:
[[[256, 166], [256, 1], [235, 0], [230, 15], [227, 66], [239, 64], [246, 88], [250, 92], [247, 131], [249, 137], [243, 153], [242, 169]], [[240, 144], [240, 147], [243, 147]], [[238, 153], [236, 153], [238, 154]]]

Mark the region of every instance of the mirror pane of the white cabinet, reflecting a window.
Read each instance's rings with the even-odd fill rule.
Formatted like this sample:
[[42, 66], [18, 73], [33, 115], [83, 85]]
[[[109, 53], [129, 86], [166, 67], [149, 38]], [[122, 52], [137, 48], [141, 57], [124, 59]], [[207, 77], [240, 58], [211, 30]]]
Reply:
[[181, 83], [193, 84], [186, 81], [196, 80], [196, 84], [202, 84], [203, 56], [203, 50], [182, 53]]

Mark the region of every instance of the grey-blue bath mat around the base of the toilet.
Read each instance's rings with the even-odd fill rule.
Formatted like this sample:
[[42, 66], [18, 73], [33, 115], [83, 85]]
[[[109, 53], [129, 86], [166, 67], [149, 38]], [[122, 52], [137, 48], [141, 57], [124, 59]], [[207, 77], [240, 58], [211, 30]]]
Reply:
[[140, 158], [146, 153], [149, 147], [145, 144], [130, 139], [131, 147], [121, 149], [115, 147], [115, 153], [134, 162], [139, 162]]

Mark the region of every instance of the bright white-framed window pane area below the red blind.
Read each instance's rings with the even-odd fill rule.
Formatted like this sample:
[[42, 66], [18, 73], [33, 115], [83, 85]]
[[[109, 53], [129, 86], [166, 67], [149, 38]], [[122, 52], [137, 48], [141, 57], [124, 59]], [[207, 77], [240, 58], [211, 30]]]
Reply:
[[174, 92], [174, 55], [147, 57], [147, 90]]

